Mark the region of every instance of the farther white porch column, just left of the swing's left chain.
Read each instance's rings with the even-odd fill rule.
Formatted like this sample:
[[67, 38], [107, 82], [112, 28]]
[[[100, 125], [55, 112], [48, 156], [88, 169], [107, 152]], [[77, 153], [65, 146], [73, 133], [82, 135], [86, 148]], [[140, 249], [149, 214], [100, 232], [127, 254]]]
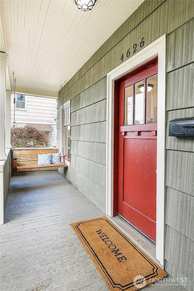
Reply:
[[6, 90], [5, 98], [5, 148], [11, 149], [11, 91]]

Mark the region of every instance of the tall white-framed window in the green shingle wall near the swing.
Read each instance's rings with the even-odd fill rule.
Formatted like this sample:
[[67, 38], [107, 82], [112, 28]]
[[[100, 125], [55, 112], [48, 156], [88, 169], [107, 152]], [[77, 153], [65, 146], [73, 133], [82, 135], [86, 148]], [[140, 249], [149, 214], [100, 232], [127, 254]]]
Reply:
[[63, 106], [63, 149], [65, 159], [70, 162], [70, 100]]

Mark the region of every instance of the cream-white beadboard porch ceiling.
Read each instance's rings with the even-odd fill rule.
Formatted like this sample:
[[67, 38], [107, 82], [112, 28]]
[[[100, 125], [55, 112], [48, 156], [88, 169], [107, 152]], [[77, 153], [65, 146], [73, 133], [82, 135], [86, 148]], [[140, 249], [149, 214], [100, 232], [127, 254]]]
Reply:
[[8, 53], [11, 84], [14, 71], [16, 91], [25, 87], [26, 92], [21, 93], [35, 93], [37, 88], [40, 95], [50, 90], [50, 96], [56, 97], [65, 80], [75, 75], [143, 1], [97, 0], [92, 11], [84, 12], [74, 0], [1, 0], [3, 47]]

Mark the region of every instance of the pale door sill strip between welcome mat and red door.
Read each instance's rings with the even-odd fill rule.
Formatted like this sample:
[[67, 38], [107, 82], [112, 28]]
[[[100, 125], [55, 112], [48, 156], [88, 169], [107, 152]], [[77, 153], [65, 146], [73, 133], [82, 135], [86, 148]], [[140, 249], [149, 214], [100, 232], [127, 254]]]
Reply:
[[121, 216], [109, 217], [122, 232], [124, 232], [142, 251], [144, 251], [153, 261], [155, 261], [162, 269], [164, 268], [156, 259], [156, 244], [152, 243], [142, 233], [127, 223]]

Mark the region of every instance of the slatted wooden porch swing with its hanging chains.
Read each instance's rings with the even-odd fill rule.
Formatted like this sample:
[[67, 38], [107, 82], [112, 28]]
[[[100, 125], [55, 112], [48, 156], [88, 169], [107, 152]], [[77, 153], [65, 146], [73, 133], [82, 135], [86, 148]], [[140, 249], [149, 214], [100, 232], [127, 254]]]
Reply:
[[[66, 83], [66, 82], [65, 82]], [[14, 72], [13, 72], [13, 85], [14, 85], [14, 121], [13, 121], [13, 128], [15, 128], [15, 84], [16, 78], [14, 79]], [[62, 89], [62, 86], [61, 86]], [[65, 92], [65, 88], [64, 88]], [[62, 104], [63, 104], [63, 97], [64, 92], [62, 94]], [[62, 120], [63, 120], [63, 110], [62, 110]], [[64, 168], [67, 167], [65, 164], [65, 156], [61, 155], [63, 161], [58, 164], [48, 164], [48, 165], [38, 165], [38, 154], [49, 154], [49, 153], [57, 153], [57, 149], [17, 149], [15, 150], [15, 135], [14, 135], [14, 142], [13, 142], [13, 171], [14, 172], [22, 172], [22, 171], [31, 171], [31, 170], [49, 170], [49, 169], [56, 169], [56, 168]], [[63, 131], [62, 131], [62, 140], [63, 140]], [[62, 154], [63, 154], [63, 146], [62, 146]]]

